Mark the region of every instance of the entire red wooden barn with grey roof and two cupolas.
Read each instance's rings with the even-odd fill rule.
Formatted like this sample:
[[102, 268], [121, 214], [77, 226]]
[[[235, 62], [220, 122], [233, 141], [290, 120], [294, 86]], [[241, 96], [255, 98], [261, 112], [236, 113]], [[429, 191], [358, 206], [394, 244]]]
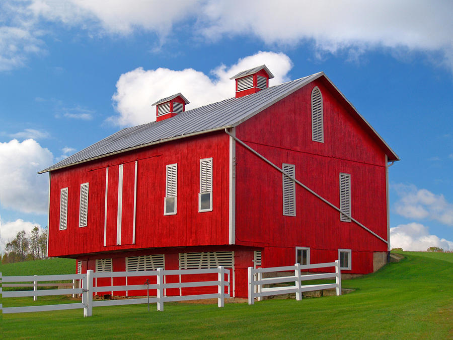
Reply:
[[235, 98], [189, 111], [180, 93], [159, 100], [157, 121], [43, 170], [48, 255], [82, 272], [224, 265], [237, 297], [253, 265], [385, 263], [398, 156], [324, 73], [270, 78], [242, 72]]

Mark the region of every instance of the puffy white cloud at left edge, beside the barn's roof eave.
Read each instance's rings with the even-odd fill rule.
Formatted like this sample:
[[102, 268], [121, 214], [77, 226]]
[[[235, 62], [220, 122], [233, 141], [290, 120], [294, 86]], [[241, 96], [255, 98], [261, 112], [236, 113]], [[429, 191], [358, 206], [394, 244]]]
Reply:
[[0, 206], [24, 213], [47, 213], [48, 176], [37, 172], [52, 161], [52, 153], [34, 140], [0, 143]]

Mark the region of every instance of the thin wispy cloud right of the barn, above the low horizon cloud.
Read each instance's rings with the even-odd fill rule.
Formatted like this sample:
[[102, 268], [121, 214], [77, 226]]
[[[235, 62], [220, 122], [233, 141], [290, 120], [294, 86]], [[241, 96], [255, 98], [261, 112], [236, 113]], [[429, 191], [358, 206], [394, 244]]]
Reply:
[[394, 185], [400, 199], [395, 203], [395, 212], [412, 219], [429, 218], [453, 226], [453, 204], [442, 194], [436, 195], [415, 185]]

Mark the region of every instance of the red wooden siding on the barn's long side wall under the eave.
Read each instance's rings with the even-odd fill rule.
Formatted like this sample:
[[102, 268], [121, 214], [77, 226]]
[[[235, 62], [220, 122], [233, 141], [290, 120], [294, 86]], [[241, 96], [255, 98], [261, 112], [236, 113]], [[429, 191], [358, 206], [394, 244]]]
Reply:
[[[128, 248], [228, 244], [229, 138], [204, 134], [53, 171], [49, 256]], [[200, 159], [213, 158], [213, 210], [198, 213]], [[136, 242], [132, 243], [137, 161]], [[164, 216], [166, 165], [178, 163], [177, 214]], [[118, 166], [123, 164], [121, 245], [116, 245]], [[109, 168], [104, 247], [105, 173]], [[89, 182], [88, 226], [79, 228], [80, 184]], [[59, 228], [59, 192], [68, 187], [67, 230]]]

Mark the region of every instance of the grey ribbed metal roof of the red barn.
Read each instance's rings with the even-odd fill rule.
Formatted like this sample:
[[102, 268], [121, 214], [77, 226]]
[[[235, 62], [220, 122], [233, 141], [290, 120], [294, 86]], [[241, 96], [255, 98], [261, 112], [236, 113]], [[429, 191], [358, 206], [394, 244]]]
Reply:
[[[308, 77], [269, 87], [248, 96], [225, 99], [217, 103], [188, 110], [160, 122], [153, 121], [146, 124], [126, 127], [39, 173], [65, 168], [74, 164], [88, 162], [124, 151], [189, 137], [190, 135], [237, 126], [320, 77], [325, 77], [328, 84], [331, 84], [334, 89], [338, 91], [324, 73], [320, 72]], [[352, 107], [354, 112], [358, 115], [358, 119], [363, 120], [365, 128], [369, 127], [369, 131], [375, 134], [375, 139], [378, 140], [378, 143], [385, 149], [388, 149], [388, 151], [386, 151], [387, 153], [391, 153], [394, 156], [393, 160], [399, 160], [393, 150], [390, 149], [380, 135], [357, 112], [357, 110], [355, 110], [344, 95], [341, 92], [339, 92], [339, 94]], [[389, 158], [389, 160], [392, 159]]]

